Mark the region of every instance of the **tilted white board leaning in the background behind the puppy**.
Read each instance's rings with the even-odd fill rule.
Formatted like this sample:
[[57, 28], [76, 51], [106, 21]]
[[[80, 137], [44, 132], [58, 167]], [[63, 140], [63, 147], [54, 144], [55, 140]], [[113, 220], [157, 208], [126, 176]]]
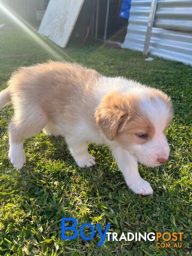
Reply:
[[38, 33], [66, 47], [84, 0], [50, 0]]

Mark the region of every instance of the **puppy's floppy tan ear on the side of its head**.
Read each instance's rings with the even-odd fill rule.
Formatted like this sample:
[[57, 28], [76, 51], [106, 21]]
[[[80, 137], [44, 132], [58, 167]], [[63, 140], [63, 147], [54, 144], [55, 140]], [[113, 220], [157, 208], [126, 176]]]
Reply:
[[111, 92], [102, 99], [94, 116], [107, 139], [114, 140], [129, 117], [129, 102], [123, 94]]

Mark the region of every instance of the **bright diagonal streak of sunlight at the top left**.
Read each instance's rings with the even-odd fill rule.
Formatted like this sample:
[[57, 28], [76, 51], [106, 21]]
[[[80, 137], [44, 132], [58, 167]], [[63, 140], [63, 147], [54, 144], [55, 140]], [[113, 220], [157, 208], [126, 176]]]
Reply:
[[[35, 32], [35, 28], [29, 25], [28, 22], [23, 20], [17, 13], [11, 10], [9, 7], [5, 6], [0, 0], [0, 10], [2, 10], [12, 21], [14, 21], [22, 30], [24, 30], [28, 35], [33, 38], [35, 42], [37, 42], [44, 50], [49, 52], [49, 54], [56, 60], [65, 61], [66, 59], [73, 60], [68, 54], [57, 48], [57, 51], [52, 49], [47, 43], [45, 43], [39, 35]], [[57, 47], [57, 46], [54, 46]], [[60, 52], [60, 54], [58, 53]], [[65, 55], [65, 58], [62, 56]]]

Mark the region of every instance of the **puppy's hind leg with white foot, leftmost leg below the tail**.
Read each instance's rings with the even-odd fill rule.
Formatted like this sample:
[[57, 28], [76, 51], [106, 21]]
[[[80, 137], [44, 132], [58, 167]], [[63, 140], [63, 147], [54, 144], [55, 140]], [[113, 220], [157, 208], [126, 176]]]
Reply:
[[15, 108], [9, 125], [9, 158], [15, 169], [21, 169], [26, 162], [23, 140], [40, 132], [47, 123], [47, 117], [41, 107], [31, 106]]

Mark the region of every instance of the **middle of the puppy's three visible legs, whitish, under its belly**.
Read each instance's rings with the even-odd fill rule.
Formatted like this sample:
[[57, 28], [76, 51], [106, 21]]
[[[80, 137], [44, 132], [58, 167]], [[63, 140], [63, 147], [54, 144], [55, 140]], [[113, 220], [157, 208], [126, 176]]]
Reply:
[[90, 167], [95, 164], [94, 157], [87, 151], [87, 142], [76, 138], [66, 138], [71, 155], [79, 167]]

